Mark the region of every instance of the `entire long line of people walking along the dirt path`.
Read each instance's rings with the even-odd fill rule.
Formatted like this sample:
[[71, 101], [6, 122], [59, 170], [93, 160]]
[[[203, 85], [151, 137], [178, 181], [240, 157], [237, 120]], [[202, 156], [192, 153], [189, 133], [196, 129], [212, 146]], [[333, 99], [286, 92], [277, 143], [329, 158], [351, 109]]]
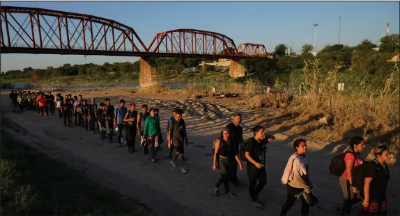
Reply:
[[[64, 126], [82, 126], [86, 131], [100, 133], [100, 139], [109, 139], [113, 142], [114, 130], [118, 144], [123, 147], [123, 138], [128, 147], [128, 152], [137, 151], [135, 148], [136, 135], [140, 137], [140, 147], [143, 153], [148, 155], [152, 163], [157, 162], [157, 153], [164, 142], [160, 127], [160, 110], [151, 108], [146, 104], [141, 106], [141, 112], [137, 112], [136, 104], [130, 103], [125, 107], [125, 100], [121, 99], [118, 106], [110, 103], [106, 98], [98, 106], [95, 99], [82, 99], [82, 95], [72, 97], [67, 94], [63, 97], [60, 93], [54, 97], [51, 92], [24, 92], [18, 90], [11, 92], [12, 106], [20, 110], [34, 110], [40, 113], [42, 119], [47, 119], [48, 112], [55, 115], [55, 108], [59, 109], [59, 118], [63, 119]], [[167, 121], [167, 144], [169, 148], [169, 163], [177, 167], [180, 172], [187, 173], [184, 167], [184, 147], [188, 144], [185, 121], [182, 118], [183, 110], [174, 108]], [[233, 116], [233, 122], [227, 124], [213, 143], [213, 170], [220, 172], [220, 178], [215, 183], [213, 192], [220, 195], [220, 186], [224, 185], [227, 197], [236, 197], [231, 192], [230, 185], [242, 188], [243, 183], [238, 180], [237, 171], [243, 170], [246, 162], [246, 172], [249, 181], [249, 197], [254, 208], [263, 209], [266, 200], [259, 197], [260, 192], [267, 184], [266, 153], [269, 142], [275, 140], [272, 135], [267, 135], [264, 126], [252, 128], [253, 136], [243, 139], [243, 128], [240, 126], [242, 115]], [[125, 131], [123, 133], [122, 131]], [[175, 155], [173, 154], [176, 150]], [[318, 206], [318, 199], [312, 193], [314, 185], [309, 178], [309, 165], [306, 158], [307, 140], [296, 139], [293, 142], [295, 151], [286, 163], [282, 175], [282, 183], [286, 185], [286, 201], [282, 205], [280, 215], [286, 215], [295, 201], [302, 202], [301, 215], [309, 215], [310, 206]], [[343, 192], [342, 206], [336, 208], [338, 215], [349, 215], [351, 207], [362, 201], [359, 215], [387, 215], [386, 189], [390, 178], [387, 162], [391, 154], [387, 146], [378, 145], [371, 150], [374, 160], [364, 161], [360, 152], [364, 150], [364, 139], [354, 137], [348, 147], [348, 151], [335, 156], [330, 164], [330, 173], [339, 176], [339, 185]]]

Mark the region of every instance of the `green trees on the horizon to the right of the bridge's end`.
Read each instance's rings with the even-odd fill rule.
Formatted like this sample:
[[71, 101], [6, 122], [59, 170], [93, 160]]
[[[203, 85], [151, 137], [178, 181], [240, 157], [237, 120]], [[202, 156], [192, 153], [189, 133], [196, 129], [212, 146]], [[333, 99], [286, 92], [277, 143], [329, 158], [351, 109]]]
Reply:
[[[247, 60], [246, 67], [250, 72], [263, 73], [269, 70], [279, 70], [289, 72], [293, 69], [300, 69], [305, 66], [305, 60], [318, 58], [324, 71], [329, 71], [336, 64], [344, 69], [362, 72], [363, 74], [382, 74], [389, 72], [393, 63], [387, 62], [399, 54], [399, 34], [392, 34], [380, 38], [380, 45], [372, 43], [370, 40], [362, 40], [354, 47], [343, 44], [326, 45], [314, 56], [311, 51], [314, 46], [304, 44], [300, 55], [295, 57], [290, 53], [285, 44], [278, 44], [273, 53], [275, 58], [270, 60]], [[374, 49], [378, 48], [378, 49]]]

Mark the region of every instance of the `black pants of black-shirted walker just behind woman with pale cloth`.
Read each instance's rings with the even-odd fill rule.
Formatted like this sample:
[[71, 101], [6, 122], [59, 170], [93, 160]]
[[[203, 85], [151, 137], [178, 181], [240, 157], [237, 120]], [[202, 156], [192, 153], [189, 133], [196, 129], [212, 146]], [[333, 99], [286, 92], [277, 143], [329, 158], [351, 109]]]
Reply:
[[[250, 197], [252, 197], [252, 201], [256, 201], [259, 198], [261, 190], [263, 190], [267, 184], [266, 168], [262, 167], [261, 169], [257, 169], [254, 165], [247, 163], [247, 176], [249, 176]], [[257, 181], [259, 181], [258, 185]]]

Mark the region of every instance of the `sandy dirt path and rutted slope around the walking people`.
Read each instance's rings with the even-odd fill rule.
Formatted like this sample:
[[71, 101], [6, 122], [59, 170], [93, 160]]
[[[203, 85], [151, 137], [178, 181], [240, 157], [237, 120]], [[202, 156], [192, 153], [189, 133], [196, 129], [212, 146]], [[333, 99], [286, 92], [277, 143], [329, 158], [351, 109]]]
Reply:
[[[63, 95], [66, 92], [61, 92]], [[97, 103], [105, 97], [116, 106], [119, 99], [127, 104], [134, 101], [137, 107], [147, 103], [149, 107], [160, 108], [160, 119], [164, 138], [167, 119], [173, 107], [180, 106], [186, 110], [183, 118], [187, 124], [189, 141], [194, 142], [185, 147], [187, 174], [181, 174], [172, 168], [167, 159], [167, 144], [159, 152], [157, 163], [151, 163], [140, 153], [128, 153], [126, 147], [116, 148], [108, 141], [102, 141], [98, 134], [86, 132], [77, 126], [65, 128], [57, 116], [43, 120], [38, 113], [19, 113], [10, 107], [9, 92], [1, 93], [2, 127], [15, 138], [26, 144], [41, 149], [54, 158], [59, 158], [76, 169], [86, 172], [91, 178], [107, 185], [122, 194], [136, 199], [153, 209], [155, 215], [279, 215], [282, 204], [286, 201], [286, 185], [281, 177], [289, 156], [293, 153], [291, 142], [295, 136], [277, 135], [277, 140], [268, 145], [266, 188], [260, 197], [266, 199], [266, 208], [258, 210], [252, 207], [249, 199], [247, 174], [238, 172], [238, 178], [244, 188], [233, 188], [236, 198], [213, 195], [213, 186], [219, 178], [218, 172], [212, 169], [212, 144], [217, 133], [231, 121], [231, 115], [243, 113], [245, 139], [252, 134], [249, 128], [256, 119], [250, 118], [254, 111], [241, 110], [240, 104], [245, 99], [211, 99], [201, 101], [187, 99], [185, 94], [138, 94], [127, 91], [114, 92], [72, 92], [82, 94], [84, 98], [95, 97]], [[240, 101], [242, 101], [240, 103]], [[225, 106], [223, 106], [225, 104]], [[229, 105], [229, 108], [226, 106]], [[139, 108], [137, 108], [139, 110]], [[224, 112], [221, 112], [224, 111]], [[137, 144], [139, 139], [137, 138]], [[100, 144], [100, 145], [98, 145]], [[201, 144], [205, 148], [195, 147]], [[329, 146], [329, 148], [327, 148]], [[342, 194], [337, 176], [329, 174], [328, 166], [332, 152], [343, 147], [343, 144], [330, 144], [309, 139], [307, 143], [307, 160], [310, 164], [310, 177], [314, 183], [314, 194], [320, 200], [322, 209], [311, 208], [309, 215], [337, 215], [334, 208], [341, 204]], [[245, 166], [245, 164], [244, 164]], [[245, 169], [244, 169], [245, 170]], [[399, 215], [399, 163], [390, 167], [391, 178], [387, 189], [388, 215]], [[224, 191], [222, 185], [220, 190]], [[301, 203], [298, 201], [288, 215], [301, 215]], [[353, 207], [353, 214], [360, 208], [360, 203]]]

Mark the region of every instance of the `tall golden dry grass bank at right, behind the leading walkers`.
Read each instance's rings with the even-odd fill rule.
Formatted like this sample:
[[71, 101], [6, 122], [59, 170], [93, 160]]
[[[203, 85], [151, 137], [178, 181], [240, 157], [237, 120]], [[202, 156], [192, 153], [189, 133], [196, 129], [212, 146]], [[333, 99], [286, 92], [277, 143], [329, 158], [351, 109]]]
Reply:
[[[326, 141], [362, 135], [371, 144], [388, 144], [398, 154], [399, 67], [393, 69], [383, 88], [374, 91], [371, 86], [360, 83], [357, 92], [337, 91], [338, 69], [320, 74], [318, 61], [306, 64], [303, 84], [307, 88], [295, 96], [289, 109], [300, 115], [291, 122], [293, 127], [288, 132], [307, 133]], [[326, 117], [328, 124], [316, 121], [321, 117]], [[309, 122], [295, 125], [304, 120]]]

